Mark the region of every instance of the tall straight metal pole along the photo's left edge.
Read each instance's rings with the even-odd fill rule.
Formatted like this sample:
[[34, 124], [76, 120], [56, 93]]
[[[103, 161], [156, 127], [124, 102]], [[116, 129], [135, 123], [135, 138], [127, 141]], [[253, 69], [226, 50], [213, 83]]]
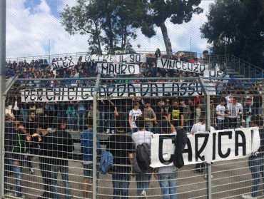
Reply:
[[4, 91], [6, 89], [6, 0], [1, 0], [0, 29], [0, 198], [4, 198]]

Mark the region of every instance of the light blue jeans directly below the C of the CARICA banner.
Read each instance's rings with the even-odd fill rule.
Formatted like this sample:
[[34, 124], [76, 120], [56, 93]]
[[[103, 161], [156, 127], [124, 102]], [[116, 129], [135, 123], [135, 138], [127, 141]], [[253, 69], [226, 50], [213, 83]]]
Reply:
[[161, 199], [177, 199], [177, 171], [173, 173], [159, 173], [158, 180], [161, 187]]

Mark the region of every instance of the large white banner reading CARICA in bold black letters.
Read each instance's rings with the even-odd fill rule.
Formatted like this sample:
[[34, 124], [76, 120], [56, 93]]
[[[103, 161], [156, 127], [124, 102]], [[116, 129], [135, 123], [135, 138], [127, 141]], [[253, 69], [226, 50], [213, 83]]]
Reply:
[[[183, 151], [185, 165], [217, 162], [246, 158], [252, 154], [252, 145], [260, 146], [258, 139], [252, 139], [251, 131], [259, 135], [258, 128], [236, 128], [197, 132], [188, 136], [188, 143]], [[258, 136], [256, 136], [258, 137]], [[173, 165], [175, 135], [155, 134], [151, 139], [151, 167]]]

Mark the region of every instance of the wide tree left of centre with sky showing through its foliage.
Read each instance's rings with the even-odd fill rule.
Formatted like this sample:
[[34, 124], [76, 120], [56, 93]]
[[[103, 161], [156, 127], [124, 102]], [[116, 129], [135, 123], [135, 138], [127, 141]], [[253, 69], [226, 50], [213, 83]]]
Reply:
[[142, 5], [142, 0], [77, 0], [77, 6], [66, 6], [61, 13], [61, 24], [69, 34], [88, 34], [88, 45], [97, 53], [102, 46], [125, 49], [129, 39], [136, 39], [136, 29], [155, 34]]

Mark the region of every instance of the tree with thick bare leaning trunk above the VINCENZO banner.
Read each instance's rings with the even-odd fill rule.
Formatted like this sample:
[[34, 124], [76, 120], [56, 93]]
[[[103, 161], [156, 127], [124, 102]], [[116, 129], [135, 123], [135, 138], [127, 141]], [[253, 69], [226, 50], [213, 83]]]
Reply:
[[161, 28], [168, 56], [172, 55], [172, 49], [165, 21], [169, 19], [173, 24], [187, 23], [191, 21], [193, 14], [203, 12], [199, 4], [200, 0], [151, 0], [148, 4], [153, 24]]

